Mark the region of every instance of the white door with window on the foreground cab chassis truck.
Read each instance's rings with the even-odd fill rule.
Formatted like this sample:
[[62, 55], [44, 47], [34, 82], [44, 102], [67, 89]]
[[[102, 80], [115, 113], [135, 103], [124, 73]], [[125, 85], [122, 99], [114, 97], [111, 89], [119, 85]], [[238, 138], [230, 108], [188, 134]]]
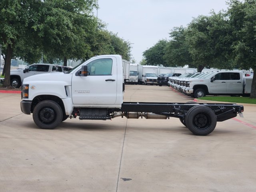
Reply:
[[[72, 100], [75, 106], [111, 106], [117, 96], [117, 61], [102, 57], [87, 65], [88, 76], [72, 75]], [[80, 67], [81, 69], [81, 67]]]

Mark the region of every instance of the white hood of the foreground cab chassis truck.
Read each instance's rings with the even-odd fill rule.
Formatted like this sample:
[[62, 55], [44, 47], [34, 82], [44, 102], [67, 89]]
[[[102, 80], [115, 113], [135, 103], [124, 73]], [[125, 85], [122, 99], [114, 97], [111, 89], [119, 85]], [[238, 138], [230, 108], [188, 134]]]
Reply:
[[43, 73], [24, 78], [23, 84], [29, 84], [30, 82], [49, 82], [49, 84], [62, 82], [62, 84], [64, 83], [66, 86], [70, 86], [71, 79], [72, 74], [65, 74], [63, 72]]

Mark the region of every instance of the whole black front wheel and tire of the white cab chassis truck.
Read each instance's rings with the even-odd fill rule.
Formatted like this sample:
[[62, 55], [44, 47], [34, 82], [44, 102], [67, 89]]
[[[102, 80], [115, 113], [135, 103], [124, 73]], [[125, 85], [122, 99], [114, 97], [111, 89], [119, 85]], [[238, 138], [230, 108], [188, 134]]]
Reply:
[[60, 105], [52, 100], [38, 103], [33, 110], [33, 120], [42, 129], [54, 129], [63, 119]]

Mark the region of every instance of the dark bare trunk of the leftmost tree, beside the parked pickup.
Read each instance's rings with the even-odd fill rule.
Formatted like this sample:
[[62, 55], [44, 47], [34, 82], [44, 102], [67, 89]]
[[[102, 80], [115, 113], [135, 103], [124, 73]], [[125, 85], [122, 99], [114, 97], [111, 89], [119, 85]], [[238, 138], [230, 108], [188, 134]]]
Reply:
[[8, 44], [6, 48], [6, 62], [4, 63], [5, 74], [4, 74], [4, 87], [10, 86], [10, 69], [11, 69], [11, 60], [12, 60], [13, 48]]

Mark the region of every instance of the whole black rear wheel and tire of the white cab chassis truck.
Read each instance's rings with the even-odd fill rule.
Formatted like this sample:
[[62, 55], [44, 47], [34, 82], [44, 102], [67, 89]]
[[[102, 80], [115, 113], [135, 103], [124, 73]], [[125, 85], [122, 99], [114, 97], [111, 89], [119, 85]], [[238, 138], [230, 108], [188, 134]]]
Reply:
[[205, 136], [215, 129], [217, 118], [210, 108], [197, 105], [188, 110], [185, 122], [193, 134]]

